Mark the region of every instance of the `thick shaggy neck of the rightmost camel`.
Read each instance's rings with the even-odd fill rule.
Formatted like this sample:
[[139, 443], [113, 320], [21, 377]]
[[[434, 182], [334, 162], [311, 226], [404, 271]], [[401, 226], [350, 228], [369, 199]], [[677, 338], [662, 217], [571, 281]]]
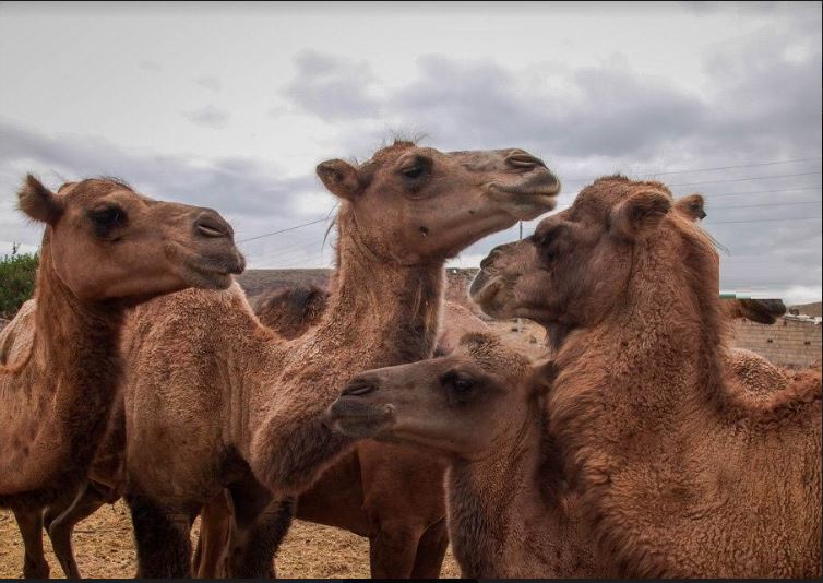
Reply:
[[[676, 556], [677, 536], [697, 521], [701, 528], [716, 527], [712, 521], [736, 488], [724, 478], [733, 448], [725, 436], [740, 435], [725, 431], [733, 423], [723, 378], [725, 322], [714, 274], [695, 274], [694, 263], [687, 257], [683, 264], [666, 264], [654, 251], [636, 261], [643, 276], [630, 279], [616, 301], [622, 310], [575, 331], [554, 359], [547, 411], [564, 477], [581, 491], [599, 547], [632, 569], [649, 569], [623, 575], [678, 572], [672, 566], [685, 557]], [[725, 444], [718, 450], [718, 443]], [[678, 479], [656, 488], [643, 476]], [[701, 504], [716, 512], [670, 510]], [[634, 537], [649, 524], [655, 527], [645, 538]], [[658, 552], [643, 559], [649, 548]]]

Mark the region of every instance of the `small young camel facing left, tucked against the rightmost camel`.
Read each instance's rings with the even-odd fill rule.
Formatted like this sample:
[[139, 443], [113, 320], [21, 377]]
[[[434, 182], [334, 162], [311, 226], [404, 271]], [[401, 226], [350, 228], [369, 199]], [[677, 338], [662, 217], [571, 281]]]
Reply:
[[530, 370], [492, 334], [467, 334], [450, 356], [358, 374], [330, 418], [353, 438], [449, 460], [449, 532], [464, 578], [609, 576], [546, 437]]

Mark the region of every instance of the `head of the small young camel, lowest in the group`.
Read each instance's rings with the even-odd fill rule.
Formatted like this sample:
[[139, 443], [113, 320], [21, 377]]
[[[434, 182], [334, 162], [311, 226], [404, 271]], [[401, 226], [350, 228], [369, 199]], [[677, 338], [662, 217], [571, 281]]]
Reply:
[[327, 415], [354, 438], [478, 459], [523, 426], [529, 372], [529, 360], [493, 334], [469, 333], [449, 356], [356, 376]]

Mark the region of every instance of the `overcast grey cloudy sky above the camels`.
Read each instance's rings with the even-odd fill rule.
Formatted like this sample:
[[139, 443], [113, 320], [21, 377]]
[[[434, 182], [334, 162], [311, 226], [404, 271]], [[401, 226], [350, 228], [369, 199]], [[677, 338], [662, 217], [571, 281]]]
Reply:
[[314, 166], [402, 132], [538, 154], [561, 207], [613, 171], [702, 192], [724, 290], [821, 297], [819, 2], [0, 2], [0, 253], [39, 242], [34, 171], [213, 206], [251, 267], [330, 265]]

